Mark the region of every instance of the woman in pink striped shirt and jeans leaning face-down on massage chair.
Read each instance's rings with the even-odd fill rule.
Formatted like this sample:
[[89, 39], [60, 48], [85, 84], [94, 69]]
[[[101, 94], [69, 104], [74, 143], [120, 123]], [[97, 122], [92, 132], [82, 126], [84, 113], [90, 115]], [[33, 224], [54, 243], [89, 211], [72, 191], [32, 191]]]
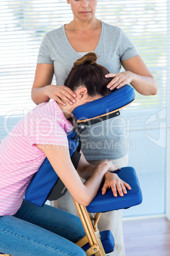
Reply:
[[[78, 217], [52, 206], [42, 208], [23, 199], [25, 190], [48, 157], [49, 162], [77, 203], [87, 206], [96, 196], [101, 181], [102, 192], [112, 188], [114, 196], [131, 189], [117, 174], [111, 160], [98, 166], [89, 164], [81, 155], [77, 171], [69, 155], [67, 132], [72, 130], [75, 107], [110, 93], [105, 78], [108, 70], [96, 64], [96, 54], [78, 59], [65, 86], [77, 94], [74, 105], [56, 101], [36, 106], [13, 127], [0, 145], [0, 252], [10, 255], [86, 255], [75, 245], [85, 236]], [[112, 78], [111, 78], [112, 79]], [[81, 176], [86, 181], [82, 183]]]

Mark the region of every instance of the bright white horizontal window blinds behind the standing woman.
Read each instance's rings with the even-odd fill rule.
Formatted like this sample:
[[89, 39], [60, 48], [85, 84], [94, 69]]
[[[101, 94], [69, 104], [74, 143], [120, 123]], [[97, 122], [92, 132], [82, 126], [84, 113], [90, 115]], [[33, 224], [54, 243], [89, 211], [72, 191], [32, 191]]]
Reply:
[[[155, 76], [157, 96], [141, 96], [125, 111], [138, 118], [167, 107], [169, 0], [98, 1], [96, 17], [121, 27], [132, 39]], [[66, 0], [6, 0], [0, 2], [0, 139], [35, 104], [30, 98], [36, 60], [44, 34], [72, 20]]]

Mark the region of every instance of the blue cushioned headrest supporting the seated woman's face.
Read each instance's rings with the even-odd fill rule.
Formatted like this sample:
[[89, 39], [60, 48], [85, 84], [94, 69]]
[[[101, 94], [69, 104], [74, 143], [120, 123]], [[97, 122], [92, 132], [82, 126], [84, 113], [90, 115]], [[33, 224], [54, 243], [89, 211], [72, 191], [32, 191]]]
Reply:
[[77, 120], [86, 120], [104, 115], [114, 110], [119, 110], [123, 106], [134, 100], [135, 93], [131, 85], [125, 85], [114, 90], [111, 94], [91, 101], [74, 109], [73, 114]]

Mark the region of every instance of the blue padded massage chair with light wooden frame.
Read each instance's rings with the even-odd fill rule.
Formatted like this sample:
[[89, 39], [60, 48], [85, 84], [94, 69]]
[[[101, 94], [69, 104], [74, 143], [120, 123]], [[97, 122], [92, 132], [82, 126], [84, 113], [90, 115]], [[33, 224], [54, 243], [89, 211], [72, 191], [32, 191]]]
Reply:
[[[126, 85], [119, 90], [114, 90], [108, 96], [75, 108], [73, 114], [77, 120], [77, 125], [73, 131], [67, 134], [70, 157], [75, 169], [77, 169], [81, 157], [81, 132], [88, 125], [94, 125], [108, 118], [119, 116], [119, 110], [130, 104], [134, 97], [133, 87]], [[134, 168], [123, 167], [121, 170], [115, 171], [115, 173], [131, 186], [132, 189], [128, 190], [128, 194], [124, 194], [123, 197], [119, 195], [114, 197], [110, 189], [105, 195], [102, 195], [101, 184], [95, 199], [87, 207], [74, 201], [84, 231], [86, 232], [86, 236], [78, 241], [77, 245], [85, 250], [86, 255], [106, 255], [105, 253], [114, 250], [114, 237], [112, 233], [110, 231], [98, 231], [98, 221], [101, 213], [129, 208], [140, 204], [142, 201], [141, 188]], [[46, 158], [39, 171], [32, 178], [25, 193], [25, 199], [42, 207], [47, 200], [57, 200], [66, 192], [67, 188], [65, 188], [65, 185]]]

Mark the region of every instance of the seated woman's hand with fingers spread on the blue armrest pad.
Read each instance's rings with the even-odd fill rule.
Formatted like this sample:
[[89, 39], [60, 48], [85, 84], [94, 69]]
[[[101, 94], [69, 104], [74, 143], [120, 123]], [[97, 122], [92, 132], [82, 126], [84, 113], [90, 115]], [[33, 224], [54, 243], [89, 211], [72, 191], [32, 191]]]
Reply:
[[103, 185], [103, 188], [101, 189], [102, 195], [104, 195], [107, 192], [108, 188], [112, 189], [112, 192], [115, 197], [117, 197], [117, 192], [120, 196], [124, 196], [124, 194], [127, 194], [126, 188], [131, 190], [131, 187], [128, 183], [121, 180], [119, 176], [116, 173], [105, 173], [105, 183]]

